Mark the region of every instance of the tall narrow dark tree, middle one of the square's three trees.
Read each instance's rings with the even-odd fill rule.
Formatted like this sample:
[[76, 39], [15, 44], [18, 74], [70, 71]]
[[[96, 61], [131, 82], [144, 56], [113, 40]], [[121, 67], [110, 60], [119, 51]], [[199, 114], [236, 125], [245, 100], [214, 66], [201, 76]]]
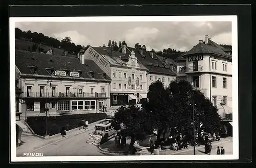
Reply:
[[148, 88], [148, 101], [143, 104], [146, 110], [147, 120], [152, 129], [157, 130], [156, 148], [160, 145], [161, 134], [166, 134], [172, 121], [172, 108], [170, 108], [169, 93], [160, 81], [153, 82]]

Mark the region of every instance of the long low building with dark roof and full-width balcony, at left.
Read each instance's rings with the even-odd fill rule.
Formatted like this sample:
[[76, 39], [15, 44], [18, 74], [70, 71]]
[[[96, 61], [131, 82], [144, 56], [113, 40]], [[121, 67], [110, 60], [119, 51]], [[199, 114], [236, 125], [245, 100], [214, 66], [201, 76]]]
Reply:
[[19, 111], [25, 115], [98, 112], [110, 105], [111, 79], [92, 60], [15, 51]]

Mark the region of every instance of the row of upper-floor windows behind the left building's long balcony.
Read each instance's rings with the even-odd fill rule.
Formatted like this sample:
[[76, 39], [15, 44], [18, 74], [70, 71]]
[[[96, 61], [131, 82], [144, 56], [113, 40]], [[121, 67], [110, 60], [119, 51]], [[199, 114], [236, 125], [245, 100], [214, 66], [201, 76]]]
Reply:
[[[75, 89], [77, 93], [82, 94], [82, 89]], [[56, 86], [51, 86], [51, 90], [48, 88], [48, 91], [52, 92], [53, 95], [56, 94]], [[66, 87], [66, 93], [68, 94], [70, 92], [70, 87]], [[32, 93], [32, 86], [27, 86], [27, 94], [28, 97]], [[94, 87], [90, 87], [90, 93], [94, 94]], [[105, 93], [105, 87], [101, 87], [101, 93]], [[45, 86], [39, 87], [39, 94], [40, 96], [43, 96], [45, 94]]]

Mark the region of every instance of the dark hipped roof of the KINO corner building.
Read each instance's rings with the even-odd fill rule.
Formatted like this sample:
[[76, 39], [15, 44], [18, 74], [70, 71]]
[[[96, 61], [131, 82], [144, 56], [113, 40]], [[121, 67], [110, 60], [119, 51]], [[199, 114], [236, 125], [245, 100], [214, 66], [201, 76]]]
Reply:
[[186, 52], [184, 55], [182, 56], [188, 56], [188, 55], [192, 55], [192, 54], [217, 54], [220, 56], [225, 56], [228, 58], [232, 58], [231, 55], [227, 54], [224, 52], [224, 47], [220, 46], [219, 44], [217, 44], [216, 42], [212, 41], [212, 40], [208, 40], [208, 43], [198, 43], [196, 46], [194, 46], [191, 50], [189, 50], [188, 52]]

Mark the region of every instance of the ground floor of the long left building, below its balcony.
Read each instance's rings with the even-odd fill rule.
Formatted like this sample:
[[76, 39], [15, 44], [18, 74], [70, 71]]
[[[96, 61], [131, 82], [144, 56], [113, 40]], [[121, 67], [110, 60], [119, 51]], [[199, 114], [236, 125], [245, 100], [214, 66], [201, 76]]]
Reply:
[[109, 104], [109, 98], [26, 99], [20, 104], [23, 117], [44, 115], [46, 109], [50, 115], [67, 115], [103, 111], [103, 105]]

